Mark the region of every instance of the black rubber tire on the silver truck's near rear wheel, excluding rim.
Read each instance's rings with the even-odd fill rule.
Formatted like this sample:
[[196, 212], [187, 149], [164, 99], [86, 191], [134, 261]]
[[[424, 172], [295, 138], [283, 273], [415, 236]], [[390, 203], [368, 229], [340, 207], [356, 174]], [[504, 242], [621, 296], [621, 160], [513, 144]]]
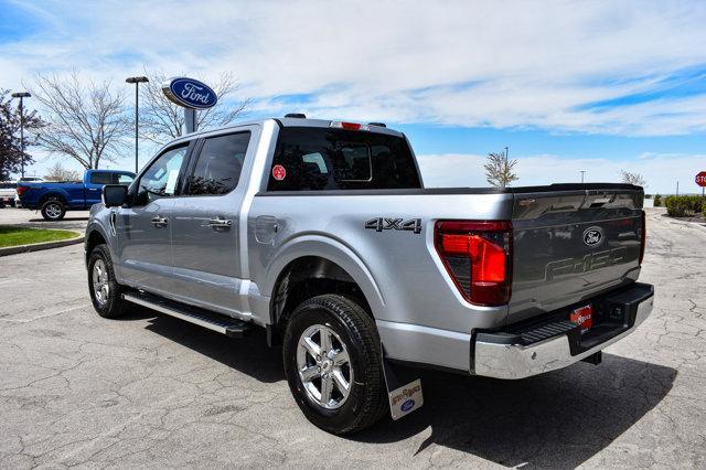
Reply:
[[[336, 409], [327, 409], [310, 398], [297, 364], [301, 335], [312, 325], [325, 325], [345, 343], [354, 380], [347, 398]], [[387, 413], [382, 351], [375, 322], [353, 300], [336, 295], [313, 297], [291, 314], [284, 339], [285, 374], [302, 413], [317, 427], [335, 435], [360, 431]]]

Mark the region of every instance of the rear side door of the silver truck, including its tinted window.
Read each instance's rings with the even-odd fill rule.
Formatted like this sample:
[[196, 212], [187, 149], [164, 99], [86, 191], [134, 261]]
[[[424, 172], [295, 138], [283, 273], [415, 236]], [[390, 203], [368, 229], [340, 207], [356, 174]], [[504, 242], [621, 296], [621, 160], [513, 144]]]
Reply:
[[257, 127], [206, 137], [194, 150], [184, 193], [172, 209], [174, 286], [199, 307], [247, 312], [240, 288], [239, 212]]

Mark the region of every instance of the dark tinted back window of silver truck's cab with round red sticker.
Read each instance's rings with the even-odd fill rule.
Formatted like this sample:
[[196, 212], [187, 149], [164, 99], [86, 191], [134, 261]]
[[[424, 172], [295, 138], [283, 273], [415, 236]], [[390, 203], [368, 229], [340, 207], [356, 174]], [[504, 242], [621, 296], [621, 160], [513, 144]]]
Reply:
[[268, 191], [421, 188], [409, 146], [384, 133], [287, 127], [279, 133]]

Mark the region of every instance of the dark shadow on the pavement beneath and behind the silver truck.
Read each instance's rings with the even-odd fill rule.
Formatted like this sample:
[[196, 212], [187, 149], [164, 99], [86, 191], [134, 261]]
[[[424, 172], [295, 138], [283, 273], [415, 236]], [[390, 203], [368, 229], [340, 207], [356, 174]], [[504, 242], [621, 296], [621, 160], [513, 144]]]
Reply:
[[[258, 381], [285, 380], [281, 349], [269, 349], [260, 329], [233, 340], [165, 316], [151, 320], [148, 329]], [[388, 418], [349, 439], [394, 442], [430, 427], [431, 435], [410, 452], [437, 445], [502, 466], [573, 468], [654, 408], [672, 388], [676, 370], [605, 353], [599, 366], [577, 363], [522, 381], [429, 370], [417, 376], [425, 394], [419, 412], [399, 421]]]

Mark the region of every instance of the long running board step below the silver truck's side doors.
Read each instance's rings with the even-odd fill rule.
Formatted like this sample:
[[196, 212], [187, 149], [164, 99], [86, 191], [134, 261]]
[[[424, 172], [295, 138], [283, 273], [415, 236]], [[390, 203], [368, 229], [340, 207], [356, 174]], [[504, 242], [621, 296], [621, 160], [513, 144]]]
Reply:
[[173, 300], [163, 299], [143, 292], [124, 293], [122, 298], [128, 302], [157, 310], [160, 313], [197, 324], [208, 330], [216, 331], [229, 338], [243, 338], [250, 329], [250, 323], [214, 313], [197, 307], [185, 306]]

